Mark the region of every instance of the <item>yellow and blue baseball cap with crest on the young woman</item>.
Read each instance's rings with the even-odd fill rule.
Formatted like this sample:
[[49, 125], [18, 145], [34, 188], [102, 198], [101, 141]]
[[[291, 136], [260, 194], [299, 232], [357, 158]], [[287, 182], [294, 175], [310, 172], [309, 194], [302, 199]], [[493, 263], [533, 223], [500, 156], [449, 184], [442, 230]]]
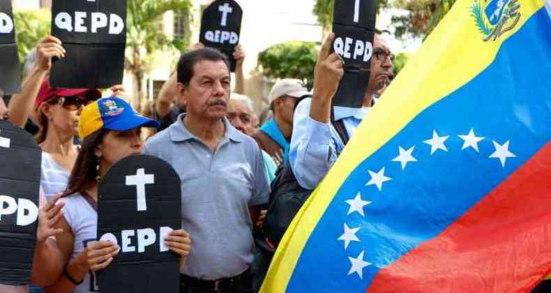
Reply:
[[88, 104], [80, 113], [78, 135], [84, 140], [86, 136], [99, 129], [110, 129], [120, 132], [136, 127], [157, 128], [160, 123], [146, 118], [134, 111], [132, 106], [118, 97], [104, 97]]

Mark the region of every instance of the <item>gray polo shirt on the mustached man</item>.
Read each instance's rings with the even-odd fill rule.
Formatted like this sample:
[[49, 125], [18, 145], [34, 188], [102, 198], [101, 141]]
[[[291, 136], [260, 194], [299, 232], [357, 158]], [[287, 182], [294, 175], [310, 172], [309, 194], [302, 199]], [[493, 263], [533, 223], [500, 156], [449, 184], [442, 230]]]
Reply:
[[255, 246], [248, 207], [269, 199], [262, 152], [227, 119], [212, 152], [186, 129], [184, 115], [145, 146], [147, 155], [165, 159], [180, 175], [182, 228], [193, 243], [182, 273], [202, 280], [237, 276], [252, 263]]

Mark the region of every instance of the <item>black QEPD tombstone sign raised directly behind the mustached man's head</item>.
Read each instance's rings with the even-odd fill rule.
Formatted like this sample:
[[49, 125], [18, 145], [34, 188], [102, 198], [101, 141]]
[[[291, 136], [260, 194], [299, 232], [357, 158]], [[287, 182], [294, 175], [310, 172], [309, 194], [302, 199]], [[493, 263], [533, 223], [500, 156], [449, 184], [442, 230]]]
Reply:
[[234, 0], [216, 0], [203, 12], [199, 42], [206, 47], [220, 50], [229, 60], [235, 72], [234, 49], [241, 38], [243, 10]]

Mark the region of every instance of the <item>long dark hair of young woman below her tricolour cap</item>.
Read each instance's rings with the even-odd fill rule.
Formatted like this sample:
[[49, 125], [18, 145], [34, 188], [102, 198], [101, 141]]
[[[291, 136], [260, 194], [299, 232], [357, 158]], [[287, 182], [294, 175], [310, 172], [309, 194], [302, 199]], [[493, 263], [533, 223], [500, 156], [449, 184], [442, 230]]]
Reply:
[[84, 138], [77, 161], [75, 161], [75, 166], [73, 166], [73, 171], [71, 171], [69, 176], [67, 190], [63, 193], [63, 196], [82, 193], [86, 189], [93, 187], [93, 184], [96, 184], [98, 157], [95, 150], [102, 143], [107, 133], [109, 133], [108, 129], [100, 129]]

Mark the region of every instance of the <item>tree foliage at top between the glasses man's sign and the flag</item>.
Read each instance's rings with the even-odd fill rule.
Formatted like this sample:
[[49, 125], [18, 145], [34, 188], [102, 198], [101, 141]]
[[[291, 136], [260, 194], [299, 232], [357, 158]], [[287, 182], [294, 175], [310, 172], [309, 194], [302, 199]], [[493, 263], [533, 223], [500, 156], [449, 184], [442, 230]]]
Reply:
[[395, 0], [393, 7], [407, 11], [392, 17], [397, 38], [426, 38], [451, 9], [455, 0]]

